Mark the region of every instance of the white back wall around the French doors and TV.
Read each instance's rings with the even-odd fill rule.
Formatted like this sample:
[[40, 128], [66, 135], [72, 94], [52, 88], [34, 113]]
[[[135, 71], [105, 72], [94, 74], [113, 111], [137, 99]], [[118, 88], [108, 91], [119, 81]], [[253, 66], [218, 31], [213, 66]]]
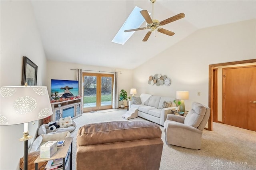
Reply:
[[[118, 91], [124, 89], [127, 91], [128, 96], [130, 95], [130, 89], [133, 88], [132, 77], [133, 71], [130, 69], [120, 69], [120, 68], [109, 68], [109, 67], [98, 67], [92, 65], [82, 65], [77, 63], [65, 63], [58, 61], [47, 61], [47, 89], [50, 95], [51, 79], [63, 79], [63, 80], [76, 80], [76, 70], [70, 69], [84, 69], [84, 70], [94, 70], [94, 71], [83, 71], [88, 73], [104, 73], [95, 71], [109, 71], [109, 72], [121, 72], [118, 74]], [[111, 74], [111, 73], [107, 73]], [[122, 102], [120, 101], [119, 105]], [[124, 102], [126, 105], [127, 103]]]

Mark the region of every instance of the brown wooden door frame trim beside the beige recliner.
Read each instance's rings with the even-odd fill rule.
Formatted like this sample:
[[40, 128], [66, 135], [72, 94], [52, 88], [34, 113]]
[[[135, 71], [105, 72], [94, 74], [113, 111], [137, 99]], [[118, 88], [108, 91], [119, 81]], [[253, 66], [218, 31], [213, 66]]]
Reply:
[[[219, 67], [219, 66], [226, 66], [226, 65], [235, 65], [235, 64], [246, 64], [246, 63], [255, 63], [256, 62], [256, 59], [248, 59], [248, 60], [242, 60], [242, 61], [232, 61], [232, 62], [228, 62], [228, 63], [217, 63], [217, 64], [210, 64], [209, 65], [209, 70], [208, 70], [208, 73], [209, 73], [209, 83], [208, 83], [208, 107], [212, 107], [214, 104], [213, 104], [213, 77], [212, 77], [212, 70], [213, 70], [213, 67]], [[217, 77], [216, 77], [217, 78]], [[208, 120], [208, 128], [206, 128], [207, 130], [212, 130], [212, 121], [213, 121], [213, 112], [212, 112], [212, 109], [210, 111], [210, 117], [209, 117], [209, 120]]]

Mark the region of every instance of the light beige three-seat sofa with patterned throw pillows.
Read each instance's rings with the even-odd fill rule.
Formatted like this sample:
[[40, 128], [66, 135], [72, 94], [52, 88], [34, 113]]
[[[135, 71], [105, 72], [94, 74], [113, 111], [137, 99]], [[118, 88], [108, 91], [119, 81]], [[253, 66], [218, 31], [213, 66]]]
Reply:
[[[162, 97], [142, 93], [140, 95], [140, 99], [141, 104], [134, 104], [134, 101], [129, 101], [129, 109], [138, 109], [139, 117], [162, 126], [164, 126], [164, 121], [166, 120], [167, 114], [171, 114], [172, 109], [175, 109], [173, 101], [176, 99], [172, 97]], [[171, 102], [171, 107], [163, 108], [164, 101]]]

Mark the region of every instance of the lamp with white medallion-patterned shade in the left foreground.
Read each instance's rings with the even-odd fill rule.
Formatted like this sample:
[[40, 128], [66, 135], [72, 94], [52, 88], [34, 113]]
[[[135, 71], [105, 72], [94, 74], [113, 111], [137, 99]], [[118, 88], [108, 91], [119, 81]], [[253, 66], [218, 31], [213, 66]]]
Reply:
[[46, 86], [6, 86], [0, 92], [0, 125], [24, 123], [24, 170], [28, 169], [28, 122], [52, 115], [52, 107]]

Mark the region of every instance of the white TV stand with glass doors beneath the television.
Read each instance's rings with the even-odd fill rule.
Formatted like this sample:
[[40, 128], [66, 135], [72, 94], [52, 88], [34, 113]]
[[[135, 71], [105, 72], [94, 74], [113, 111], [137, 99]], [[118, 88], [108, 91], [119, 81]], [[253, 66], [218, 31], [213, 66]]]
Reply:
[[51, 103], [51, 105], [52, 105], [52, 112], [53, 112], [51, 121], [53, 122], [59, 121], [60, 118], [66, 117], [65, 115], [63, 117], [63, 111], [67, 109], [71, 109], [70, 111], [74, 111], [74, 117], [71, 116], [72, 119], [75, 119], [82, 115], [81, 114], [82, 113], [81, 98], [54, 102], [54, 103]]

